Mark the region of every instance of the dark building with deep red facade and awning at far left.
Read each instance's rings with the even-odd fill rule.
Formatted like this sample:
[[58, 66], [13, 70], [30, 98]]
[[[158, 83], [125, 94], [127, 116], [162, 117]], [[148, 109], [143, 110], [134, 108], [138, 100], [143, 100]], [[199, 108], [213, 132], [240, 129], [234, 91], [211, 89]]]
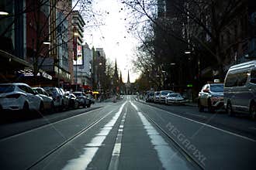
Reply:
[[9, 13], [0, 16], [1, 68], [5, 70], [1, 74], [5, 82], [38, 85], [44, 78], [52, 78], [42, 70], [42, 61], [49, 56], [49, 46], [44, 43], [49, 39], [49, 3], [47, 0], [0, 2]]

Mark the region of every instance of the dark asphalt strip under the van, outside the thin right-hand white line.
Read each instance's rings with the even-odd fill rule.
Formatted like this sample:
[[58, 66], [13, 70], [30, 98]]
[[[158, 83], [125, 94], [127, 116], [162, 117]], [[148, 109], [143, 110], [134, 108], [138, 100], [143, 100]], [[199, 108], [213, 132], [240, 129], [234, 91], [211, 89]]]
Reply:
[[168, 106], [164, 104], [146, 103], [144, 100], [140, 100], [140, 102], [152, 107], [170, 111], [171, 113], [178, 114], [195, 121], [213, 125], [217, 128], [252, 138], [256, 141], [256, 121], [250, 120], [246, 114], [237, 114], [236, 117], [229, 117], [224, 110], [217, 110], [215, 114], [212, 114], [207, 110], [199, 112], [197, 107], [181, 105]]

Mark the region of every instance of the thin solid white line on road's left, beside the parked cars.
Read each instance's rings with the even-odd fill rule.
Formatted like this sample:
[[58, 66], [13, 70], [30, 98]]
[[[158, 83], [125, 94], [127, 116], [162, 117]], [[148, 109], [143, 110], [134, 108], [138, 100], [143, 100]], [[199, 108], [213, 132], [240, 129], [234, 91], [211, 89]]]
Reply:
[[[28, 133], [30, 133], [30, 132], [37, 131], [37, 130], [42, 129], [42, 128], [47, 128], [48, 126], [54, 127], [54, 124], [60, 123], [60, 122], [62, 122], [62, 121], [67, 121], [68, 119], [71, 120], [71, 119], [73, 119], [73, 118], [75, 118], [75, 117], [81, 116], [82, 114], [88, 114], [88, 113], [91, 113], [91, 112], [93, 112], [93, 111], [100, 110], [100, 109], [103, 109], [103, 107], [98, 108], [98, 109], [95, 109], [95, 110], [90, 110], [90, 111], [87, 111], [87, 112], [84, 112], [84, 113], [81, 113], [81, 114], [78, 114], [78, 115], [75, 115], [75, 116], [72, 116], [72, 117], [67, 117], [67, 118], [61, 119], [60, 121], [54, 121], [54, 122], [52, 122], [52, 123], [47, 122], [48, 124], [44, 124], [44, 125], [42, 125], [42, 126], [40, 126], [40, 127], [33, 128], [33, 129], [28, 130], [28, 131], [23, 131], [23, 132], [21, 132], [21, 133], [19, 133], [19, 134], [14, 134], [14, 135], [9, 136], [9, 137], [7, 137], [7, 138], [2, 138], [2, 139], [0, 139], [0, 142], [9, 140], [10, 138], [16, 138], [16, 137], [21, 136], [21, 135], [23, 135], [23, 134], [28, 134]], [[54, 128], [54, 129], [55, 129], [55, 128]]]

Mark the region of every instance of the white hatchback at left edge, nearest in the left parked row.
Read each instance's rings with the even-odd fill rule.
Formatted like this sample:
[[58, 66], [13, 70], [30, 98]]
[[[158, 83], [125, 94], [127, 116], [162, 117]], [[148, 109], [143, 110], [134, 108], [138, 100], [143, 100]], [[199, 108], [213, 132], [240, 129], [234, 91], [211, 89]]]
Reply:
[[0, 84], [0, 108], [2, 110], [38, 110], [42, 112], [43, 99], [26, 83]]

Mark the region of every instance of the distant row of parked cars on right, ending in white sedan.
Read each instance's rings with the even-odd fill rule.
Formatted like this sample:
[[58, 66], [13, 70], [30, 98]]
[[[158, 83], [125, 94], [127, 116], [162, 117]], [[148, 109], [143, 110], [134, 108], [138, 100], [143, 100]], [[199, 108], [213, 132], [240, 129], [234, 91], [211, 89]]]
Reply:
[[180, 93], [171, 90], [147, 91], [145, 94], [146, 102], [154, 102], [160, 104], [185, 104], [187, 100]]

